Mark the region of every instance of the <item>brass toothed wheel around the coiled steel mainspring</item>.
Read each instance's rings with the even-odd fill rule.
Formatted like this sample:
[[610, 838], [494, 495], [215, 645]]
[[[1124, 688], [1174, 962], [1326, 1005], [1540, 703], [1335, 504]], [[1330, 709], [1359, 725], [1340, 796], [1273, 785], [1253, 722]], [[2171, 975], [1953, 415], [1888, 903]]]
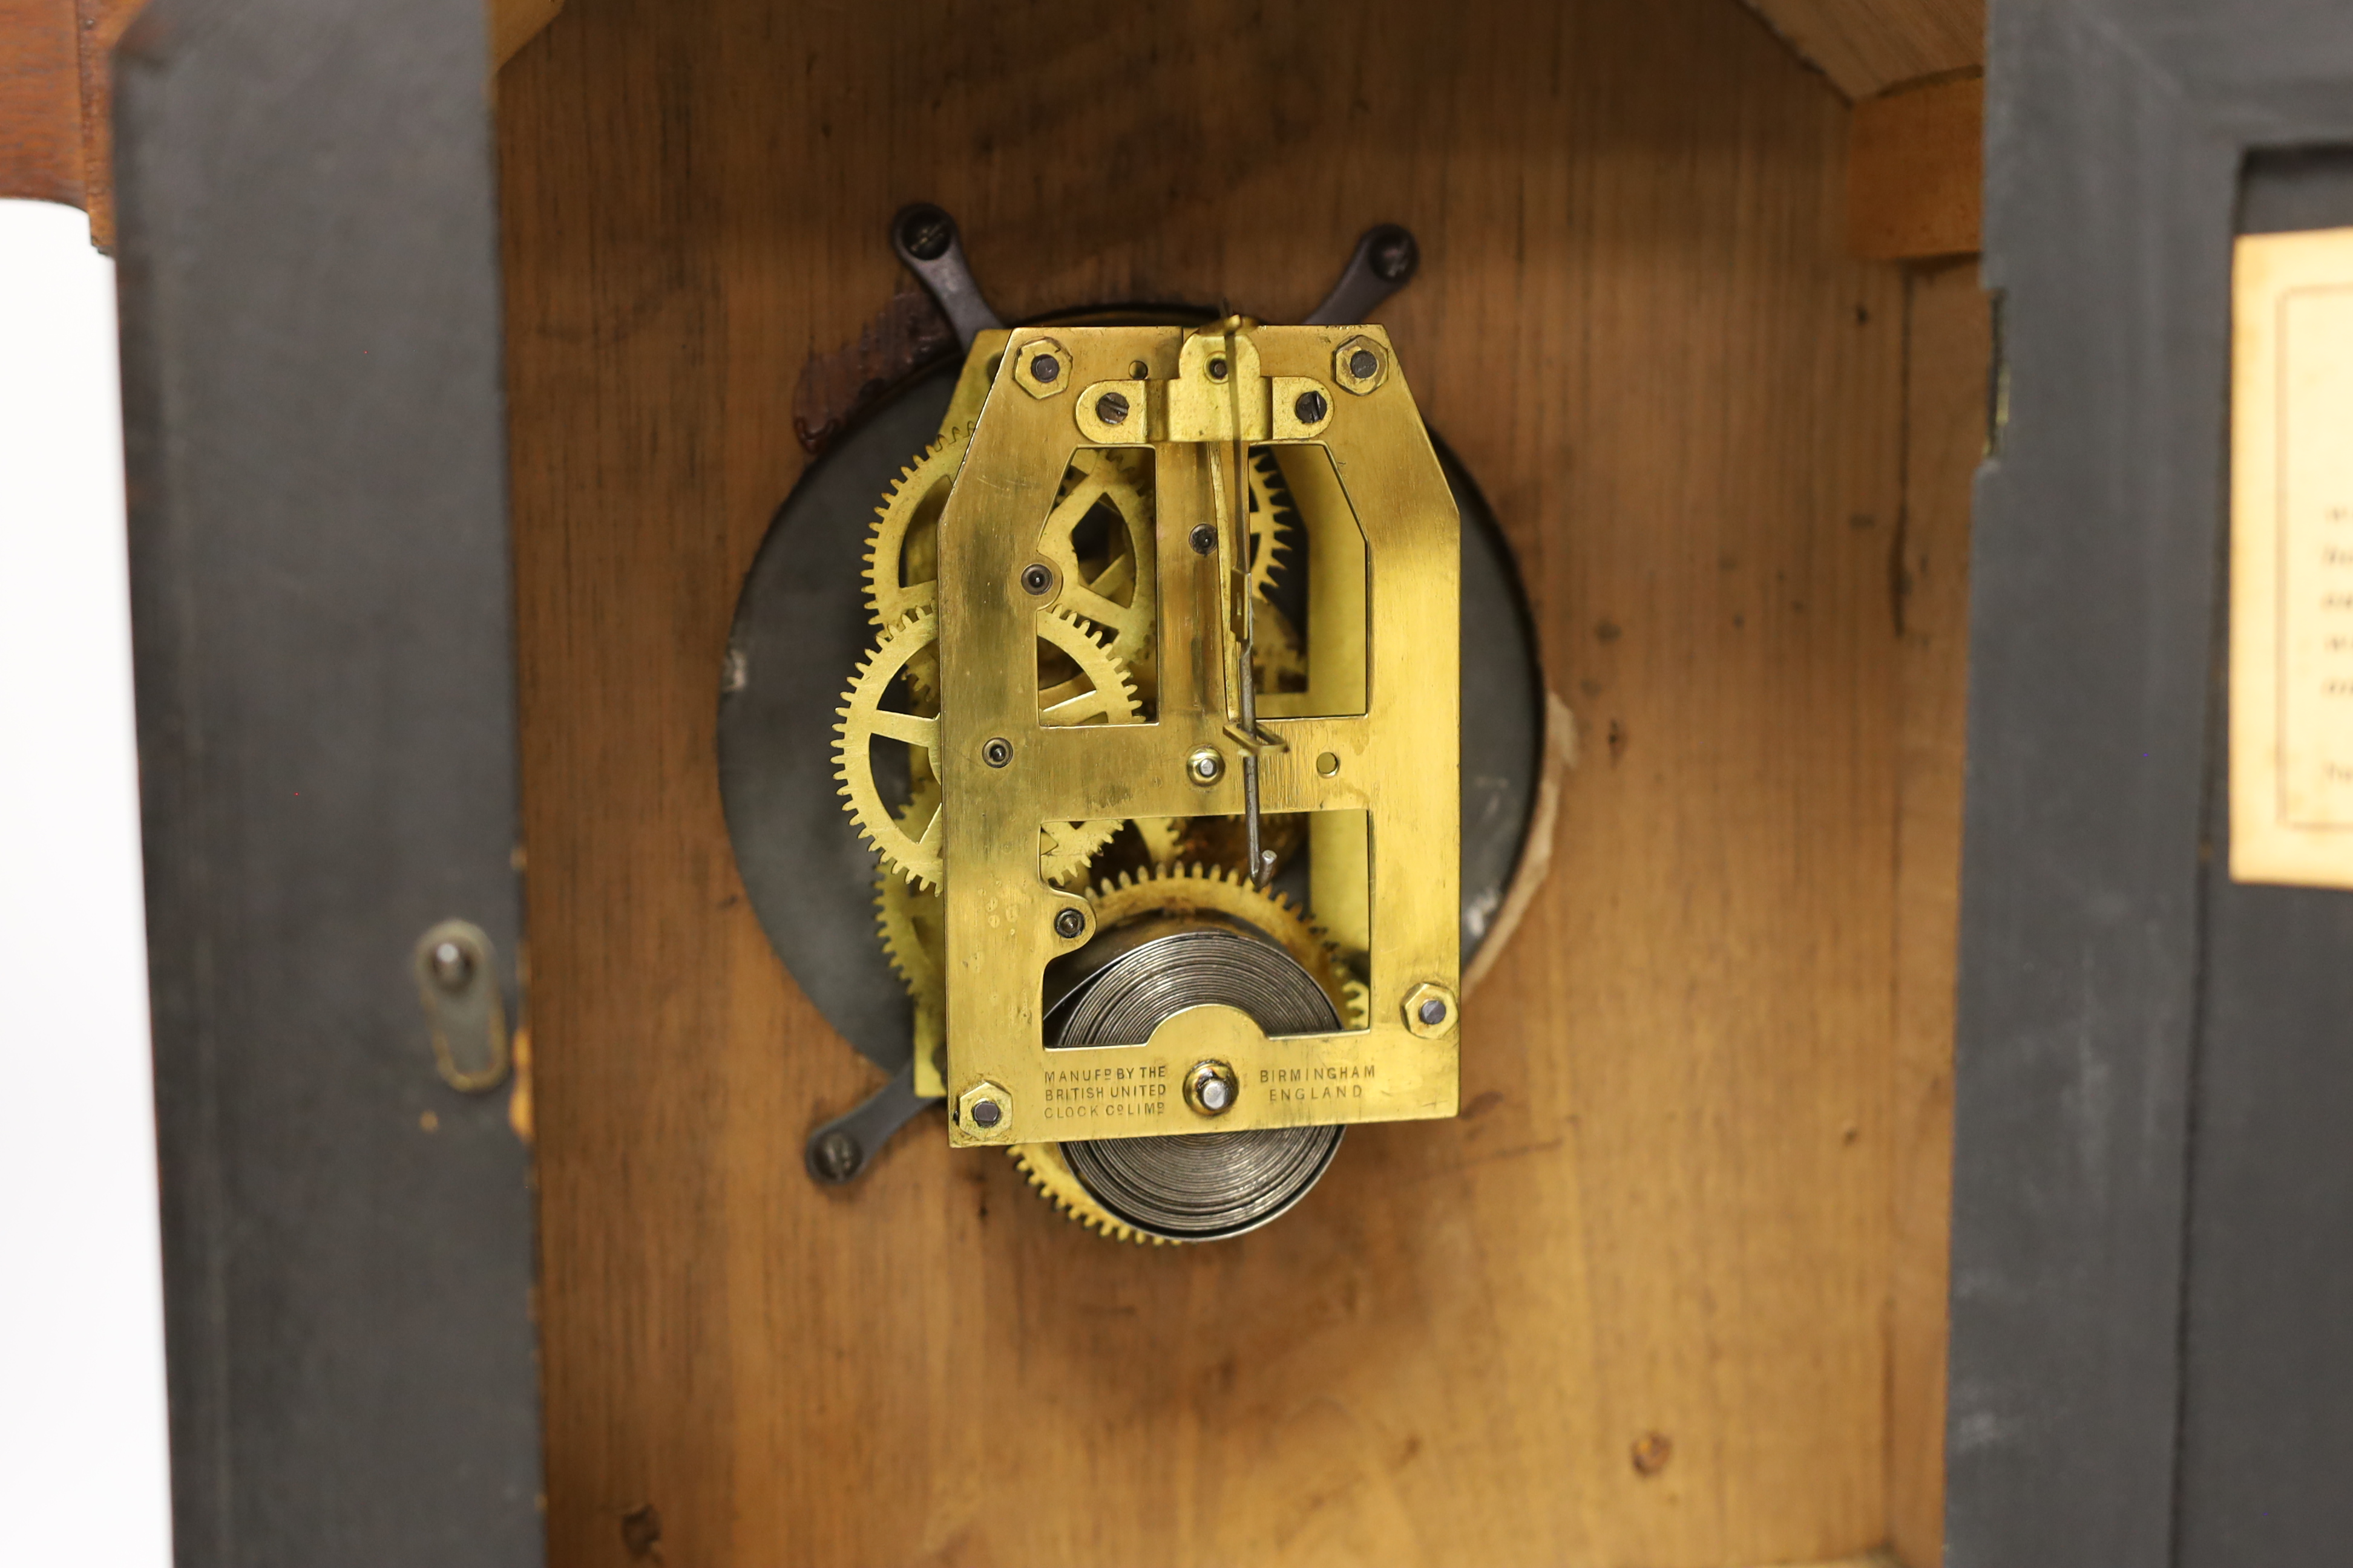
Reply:
[[[1362, 1030], [1369, 1018], [1369, 994], [1362, 983], [1358, 983], [1346, 966], [1339, 961], [1339, 952], [1325, 938], [1322, 929], [1315, 926], [1306, 914], [1301, 914], [1289, 898], [1282, 893], [1261, 893], [1249, 886], [1249, 879], [1209, 865], [1172, 865], [1167, 870], [1148, 867], [1141, 875], [1120, 875], [1113, 882], [1101, 882], [1087, 889], [1087, 903], [1094, 905], [1094, 929], [1111, 931], [1129, 919], [1141, 919], [1146, 914], [1224, 914], [1228, 919], [1240, 919], [1268, 938], [1275, 940], [1301, 969], [1332, 997], [1332, 1006], [1339, 1016], [1348, 1020], [1348, 1027]], [[1094, 1229], [1111, 1241], [1151, 1241], [1153, 1246], [1172, 1246], [1167, 1237], [1155, 1237], [1151, 1232], [1136, 1229], [1120, 1215], [1104, 1208], [1071, 1164], [1064, 1159], [1059, 1143], [1016, 1143], [1007, 1150], [1028, 1185], [1038, 1190], [1038, 1197], [1047, 1199], [1071, 1220], [1078, 1220], [1087, 1229]]]

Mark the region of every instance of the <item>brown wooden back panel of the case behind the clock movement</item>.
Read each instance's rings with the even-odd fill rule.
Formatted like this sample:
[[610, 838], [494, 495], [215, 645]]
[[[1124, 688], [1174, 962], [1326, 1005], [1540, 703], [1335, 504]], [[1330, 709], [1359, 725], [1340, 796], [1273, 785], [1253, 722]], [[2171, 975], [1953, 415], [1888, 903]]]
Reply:
[[[1882, 1542], [1904, 301], [1835, 94], [1729, 0], [572, 0], [499, 115], [551, 1561]], [[1384, 320], [1588, 738], [1466, 1114], [1238, 1244], [1106, 1246], [936, 1128], [800, 1173], [871, 1072], [744, 903], [715, 682], [913, 197], [1009, 315], [1280, 320], [1412, 223]]]

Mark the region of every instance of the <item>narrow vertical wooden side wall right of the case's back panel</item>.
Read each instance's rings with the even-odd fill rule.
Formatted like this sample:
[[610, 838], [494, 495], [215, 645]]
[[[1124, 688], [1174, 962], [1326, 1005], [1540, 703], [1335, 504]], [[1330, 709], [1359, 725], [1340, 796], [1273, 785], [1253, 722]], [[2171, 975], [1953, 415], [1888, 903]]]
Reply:
[[1944, 1342], [1953, 1232], [1953, 969], [1969, 710], [1969, 480], [1986, 444], [1991, 310], [1977, 259], [1911, 277], [1899, 557], [1894, 1274], [1889, 1540], [1944, 1556]]

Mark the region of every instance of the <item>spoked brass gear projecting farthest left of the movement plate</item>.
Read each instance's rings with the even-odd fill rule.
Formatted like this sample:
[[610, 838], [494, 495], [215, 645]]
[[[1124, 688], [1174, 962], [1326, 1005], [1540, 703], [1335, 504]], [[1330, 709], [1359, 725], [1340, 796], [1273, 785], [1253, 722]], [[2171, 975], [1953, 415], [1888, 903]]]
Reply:
[[[920, 766], [911, 764], [918, 778], [925, 773], [939, 778], [939, 715], [882, 705], [899, 672], [918, 654], [932, 651], [936, 642], [939, 616], [929, 609], [918, 609], [882, 632], [882, 642], [859, 663], [849, 689], [842, 691], [840, 719], [833, 726], [833, 776], [840, 780], [859, 835], [875, 846], [887, 867], [918, 886], [939, 886], [941, 879], [939, 809], [934, 806], [920, 827], [913, 816], [906, 820], [894, 816], [882, 804], [871, 748], [878, 736], [899, 741], [920, 757]], [[1078, 621], [1052, 609], [1038, 611], [1038, 642], [1056, 649], [1078, 668], [1073, 682], [1040, 693], [1040, 724], [1132, 724], [1141, 717], [1134, 679]], [[1073, 684], [1082, 689], [1068, 691]], [[1042, 827], [1038, 856], [1047, 882], [1066, 882], [1085, 872], [1087, 860], [1111, 842], [1118, 827], [1118, 820]]]

